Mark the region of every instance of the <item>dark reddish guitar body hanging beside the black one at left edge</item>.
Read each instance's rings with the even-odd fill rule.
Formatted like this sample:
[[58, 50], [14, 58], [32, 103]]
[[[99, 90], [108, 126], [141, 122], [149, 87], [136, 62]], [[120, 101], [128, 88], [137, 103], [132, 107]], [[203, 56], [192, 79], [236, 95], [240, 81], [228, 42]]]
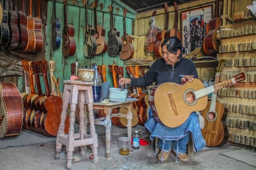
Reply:
[[10, 44], [8, 46], [9, 49], [15, 49], [19, 45], [19, 35], [20, 35], [20, 30], [18, 27], [18, 20], [19, 20], [19, 15], [17, 12], [14, 11], [8, 11], [9, 19], [8, 19], [8, 25], [10, 28]]

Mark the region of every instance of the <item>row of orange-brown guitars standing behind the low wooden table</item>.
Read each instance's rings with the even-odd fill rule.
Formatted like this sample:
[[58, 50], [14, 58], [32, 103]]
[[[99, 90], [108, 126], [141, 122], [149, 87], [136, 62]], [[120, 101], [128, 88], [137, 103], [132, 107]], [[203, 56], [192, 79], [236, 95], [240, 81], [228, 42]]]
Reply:
[[[118, 65], [108, 65], [109, 71], [113, 77], [113, 85], [115, 88], [126, 88], [124, 85], [119, 85], [118, 80], [121, 79], [124, 75], [124, 68]], [[126, 66], [125, 67], [127, 74], [130, 77], [139, 78], [144, 75], [144, 68], [139, 66]], [[100, 76], [102, 77], [102, 81], [106, 82], [106, 66], [99, 65], [98, 70]], [[140, 87], [133, 88], [132, 92], [129, 92], [129, 97], [137, 98], [138, 101], [133, 102], [133, 119], [132, 119], [132, 127], [136, 126], [138, 123], [140, 125], [144, 125], [147, 121], [147, 111], [149, 108], [149, 98], [147, 92], [142, 92]], [[127, 113], [127, 109], [125, 107], [116, 108], [112, 110], [112, 113]], [[105, 116], [103, 110], [98, 111], [99, 117]], [[112, 117], [112, 123], [118, 127], [126, 128], [127, 127], [127, 119], [125, 117]]]

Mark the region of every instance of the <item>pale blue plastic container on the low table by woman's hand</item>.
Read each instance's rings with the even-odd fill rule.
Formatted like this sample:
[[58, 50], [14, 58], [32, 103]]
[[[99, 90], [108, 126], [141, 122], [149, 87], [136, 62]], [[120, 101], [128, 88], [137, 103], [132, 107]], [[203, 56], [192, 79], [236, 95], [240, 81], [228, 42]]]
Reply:
[[109, 101], [110, 102], [126, 102], [128, 90], [121, 88], [110, 88]]

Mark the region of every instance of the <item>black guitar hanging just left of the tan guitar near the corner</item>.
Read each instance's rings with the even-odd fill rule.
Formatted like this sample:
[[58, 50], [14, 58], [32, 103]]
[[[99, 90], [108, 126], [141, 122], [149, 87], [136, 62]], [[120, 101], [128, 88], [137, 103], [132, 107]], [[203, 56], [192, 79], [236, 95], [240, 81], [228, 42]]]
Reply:
[[119, 37], [120, 32], [114, 28], [113, 25], [113, 6], [109, 6], [110, 12], [110, 31], [108, 32], [108, 55], [109, 56], [117, 56], [120, 54], [122, 50], [122, 40]]

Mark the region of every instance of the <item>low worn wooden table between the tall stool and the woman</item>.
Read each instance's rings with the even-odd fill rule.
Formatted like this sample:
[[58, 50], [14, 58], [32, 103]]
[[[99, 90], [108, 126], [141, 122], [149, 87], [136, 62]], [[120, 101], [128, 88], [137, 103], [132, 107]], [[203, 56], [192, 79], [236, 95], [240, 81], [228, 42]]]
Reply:
[[95, 119], [95, 124], [96, 125], [104, 125], [105, 126], [105, 138], [106, 138], [106, 159], [110, 159], [110, 138], [111, 138], [111, 115], [112, 109], [118, 108], [118, 107], [126, 107], [127, 108], [127, 113], [125, 114], [117, 114], [118, 117], [126, 117], [127, 119], [127, 136], [128, 138], [132, 137], [132, 107], [133, 107], [133, 102], [135, 101], [129, 101], [125, 103], [119, 103], [119, 102], [108, 102], [108, 103], [93, 103], [93, 109], [103, 109], [105, 113], [105, 118], [103, 118], [103, 122], [99, 121], [102, 120], [100, 117], [99, 119]]

